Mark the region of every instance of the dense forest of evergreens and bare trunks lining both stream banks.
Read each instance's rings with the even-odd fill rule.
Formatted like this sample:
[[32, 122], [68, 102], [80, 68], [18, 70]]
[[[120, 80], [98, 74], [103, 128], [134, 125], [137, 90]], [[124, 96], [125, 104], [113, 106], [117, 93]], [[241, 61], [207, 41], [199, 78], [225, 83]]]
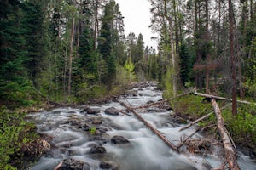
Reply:
[[[232, 98], [233, 116], [237, 98], [255, 102], [255, 1], [149, 2], [157, 49], [142, 34], [125, 36], [114, 0], [0, 1], [0, 168], [29, 138], [20, 137], [27, 125], [17, 108], [82, 104], [145, 80], [158, 81], [166, 98], [190, 87]], [[253, 121], [256, 144], [256, 112], [246, 111], [241, 122]]]

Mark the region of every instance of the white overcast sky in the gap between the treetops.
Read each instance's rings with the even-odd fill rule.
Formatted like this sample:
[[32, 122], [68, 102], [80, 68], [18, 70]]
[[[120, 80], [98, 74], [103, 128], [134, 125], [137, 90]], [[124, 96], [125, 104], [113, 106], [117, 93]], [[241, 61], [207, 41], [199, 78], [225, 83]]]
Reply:
[[150, 3], [148, 0], [115, 0], [119, 3], [120, 11], [125, 17], [125, 36], [132, 31], [136, 37], [139, 33], [143, 34], [144, 46], [157, 48], [157, 42], [151, 40], [151, 37], [155, 35], [151, 29], [148, 28], [150, 25]]

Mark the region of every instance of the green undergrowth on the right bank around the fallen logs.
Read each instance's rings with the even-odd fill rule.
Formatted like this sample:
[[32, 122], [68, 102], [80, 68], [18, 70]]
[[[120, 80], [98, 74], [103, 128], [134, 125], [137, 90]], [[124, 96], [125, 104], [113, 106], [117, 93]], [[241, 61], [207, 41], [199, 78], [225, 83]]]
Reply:
[[[211, 102], [193, 94], [186, 95], [172, 101], [173, 111], [190, 121], [195, 121], [201, 116], [212, 112]], [[219, 107], [224, 107], [222, 116], [225, 127], [230, 132], [235, 143], [256, 151], [256, 105], [239, 104], [238, 113], [232, 116], [230, 103], [218, 101]], [[198, 123], [200, 127], [217, 124], [214, 113], [205, 120]], [[216, 128], [208, 128], [208, 133], [218, 133]]]

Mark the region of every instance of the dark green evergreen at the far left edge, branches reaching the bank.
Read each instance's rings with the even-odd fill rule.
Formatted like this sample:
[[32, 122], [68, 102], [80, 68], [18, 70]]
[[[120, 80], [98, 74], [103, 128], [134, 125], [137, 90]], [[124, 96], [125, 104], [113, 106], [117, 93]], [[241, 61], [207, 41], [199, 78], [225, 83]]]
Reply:
[[25, 105], [30, 94], [31, 84], [24, 67], [26, 49], [20, 31], [20, 5], [16, 0], [1, 1], [0, 5], [0, 105]]

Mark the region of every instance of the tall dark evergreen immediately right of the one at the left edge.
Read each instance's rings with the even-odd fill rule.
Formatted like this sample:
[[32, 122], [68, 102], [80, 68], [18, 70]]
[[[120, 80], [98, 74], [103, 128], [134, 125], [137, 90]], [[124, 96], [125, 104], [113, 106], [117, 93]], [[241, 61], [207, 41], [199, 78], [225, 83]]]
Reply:
[[[43, 2], [44, 3], [44, 2]], [[26, 68], [29, 77], [35, 86], [44, 65], [42, 60], [45, 56], [45, 28], [44, 28], [44, 5], [40, 1], [25, 1], [23, 3], [24, 17], [22, 20], [23, 35], [26, 39]]]

